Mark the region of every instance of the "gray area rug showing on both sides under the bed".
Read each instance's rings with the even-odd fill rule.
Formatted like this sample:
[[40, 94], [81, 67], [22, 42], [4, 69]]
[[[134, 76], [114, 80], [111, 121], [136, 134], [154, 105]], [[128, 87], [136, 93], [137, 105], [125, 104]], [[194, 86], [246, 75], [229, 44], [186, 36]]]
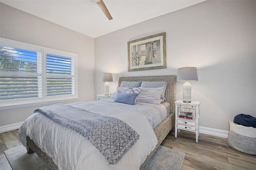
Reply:
[[[4, 151], [13, 170], [50, 170], [36, 153], [27, 154], [24, 146]], [[159, 146], [142, 170], [180, 170], [185, 153]]]

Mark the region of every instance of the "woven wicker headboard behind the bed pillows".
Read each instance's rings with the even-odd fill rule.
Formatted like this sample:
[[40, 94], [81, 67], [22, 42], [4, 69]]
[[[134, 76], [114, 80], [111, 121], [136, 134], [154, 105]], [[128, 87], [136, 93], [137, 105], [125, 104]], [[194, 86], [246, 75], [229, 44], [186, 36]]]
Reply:
[[150, 76], [131, 76], [119, 77], [118, 87], [122, 81], [166, 81], [167, 86], [164, 93], [166, 102], [170, 103], [170, 113], [175, 112], [176, 99], [176, 75], [150, 75]]

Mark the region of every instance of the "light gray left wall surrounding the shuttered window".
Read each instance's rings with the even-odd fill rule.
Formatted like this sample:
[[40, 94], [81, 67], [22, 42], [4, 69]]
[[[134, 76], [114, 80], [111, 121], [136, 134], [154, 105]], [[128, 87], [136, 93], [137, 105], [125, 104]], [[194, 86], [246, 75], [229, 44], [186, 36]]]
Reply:
[[[94, 100], [94, 38], [2, 3], [0, 37], [77, 53], [79, 99], [76, 101]], [[1, 110], [0, 127], [25, 121], [37, 107], [40, 105]]]

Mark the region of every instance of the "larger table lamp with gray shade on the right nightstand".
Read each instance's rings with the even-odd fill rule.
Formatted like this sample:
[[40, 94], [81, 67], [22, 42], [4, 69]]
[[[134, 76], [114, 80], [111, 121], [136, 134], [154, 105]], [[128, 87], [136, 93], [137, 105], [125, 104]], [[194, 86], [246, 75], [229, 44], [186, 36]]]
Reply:
[[191, 84], [189, 81], [198, 81], [196, 67], [178, 68], [177, 81], [185, 81], [183, 85], [183, 102], [191, 103]]

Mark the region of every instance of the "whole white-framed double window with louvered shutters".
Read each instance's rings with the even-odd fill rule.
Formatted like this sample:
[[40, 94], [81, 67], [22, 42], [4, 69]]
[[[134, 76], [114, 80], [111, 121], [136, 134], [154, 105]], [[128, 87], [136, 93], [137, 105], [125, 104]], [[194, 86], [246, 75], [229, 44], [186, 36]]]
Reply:
[[77, 54], [1, 38], [1, 109], [77, 98]]

